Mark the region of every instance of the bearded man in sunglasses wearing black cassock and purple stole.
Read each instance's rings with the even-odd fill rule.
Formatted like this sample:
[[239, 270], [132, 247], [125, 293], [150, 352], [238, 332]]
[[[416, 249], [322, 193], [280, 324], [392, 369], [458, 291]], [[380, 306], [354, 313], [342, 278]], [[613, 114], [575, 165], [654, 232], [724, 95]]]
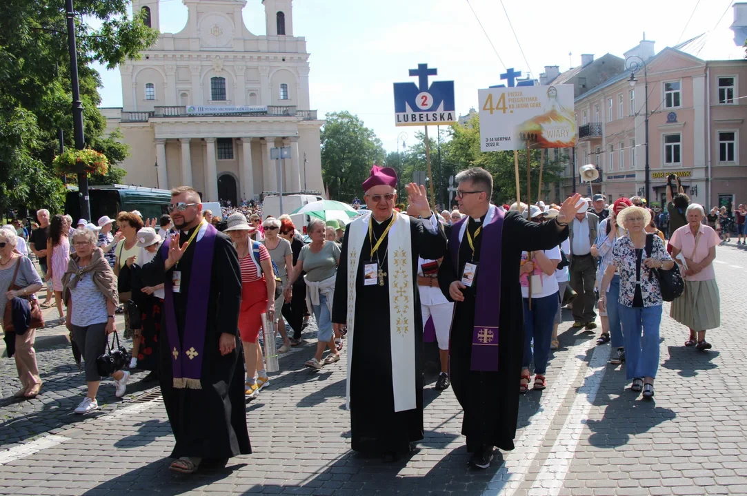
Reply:
[[176, 234], [143, 266], [148, 286], [164, 283], [160, 380], [176, 446], [172, 471], [225, 465], [251, 453], [238, 336], [241, 269], [231, 239], [202, 219], [199, 193], [171, 192]]

